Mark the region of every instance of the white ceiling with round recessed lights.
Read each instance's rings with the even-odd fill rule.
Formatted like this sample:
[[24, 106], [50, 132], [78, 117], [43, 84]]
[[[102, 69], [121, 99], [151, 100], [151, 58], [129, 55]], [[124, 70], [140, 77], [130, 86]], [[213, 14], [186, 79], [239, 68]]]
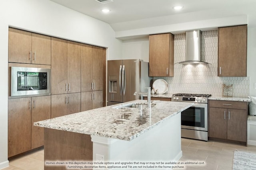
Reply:
[[[248, 16], [248, 27], [256, 27], [256, 0], [51, 0], [82, 14], [109, 23], [114, 31], [154, 27], [232, 16]], [[184, 6], [175, 11], [174, 6]], [[108, 8], [108, 14], [101, 9]]]

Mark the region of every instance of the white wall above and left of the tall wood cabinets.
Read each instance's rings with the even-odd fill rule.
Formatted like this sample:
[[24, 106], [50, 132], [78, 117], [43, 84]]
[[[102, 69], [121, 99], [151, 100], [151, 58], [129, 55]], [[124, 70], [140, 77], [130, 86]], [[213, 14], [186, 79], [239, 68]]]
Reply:
[[107, 47], [107, 59], [122, 56], [122, 42], [107, 23], [49, 0], [1, 0], [0, 169], [8, 165], [8, 26]]

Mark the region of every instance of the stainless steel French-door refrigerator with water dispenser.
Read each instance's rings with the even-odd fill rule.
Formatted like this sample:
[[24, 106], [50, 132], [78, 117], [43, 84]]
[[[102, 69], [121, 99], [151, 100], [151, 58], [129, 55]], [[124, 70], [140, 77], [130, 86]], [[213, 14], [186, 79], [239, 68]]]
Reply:
[[107, 105], [143, 99], [134, 92], [147, 92], [152, 77], [148, 76], [148, 62], [142, 60], [109, 60], [107, 76]]

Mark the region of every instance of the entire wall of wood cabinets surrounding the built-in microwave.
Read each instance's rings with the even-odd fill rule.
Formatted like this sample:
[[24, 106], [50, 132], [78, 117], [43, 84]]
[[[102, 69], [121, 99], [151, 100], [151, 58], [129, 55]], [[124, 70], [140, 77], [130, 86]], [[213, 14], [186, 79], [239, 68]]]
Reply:
[[106, 106], [105, 48], [9, 28], [8, 61], [9, 76], [11, 66], [51, 68], [48, 96], [13, 98], [8, 80], [10, 159], [43, 147], [34, 122]]

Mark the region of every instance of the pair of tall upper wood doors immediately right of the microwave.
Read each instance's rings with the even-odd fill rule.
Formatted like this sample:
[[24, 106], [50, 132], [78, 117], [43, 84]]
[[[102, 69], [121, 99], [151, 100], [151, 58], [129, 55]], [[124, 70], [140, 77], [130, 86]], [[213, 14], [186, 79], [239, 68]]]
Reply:
[[52, 94], [81, 91], [81, 44], [52, 37]]

